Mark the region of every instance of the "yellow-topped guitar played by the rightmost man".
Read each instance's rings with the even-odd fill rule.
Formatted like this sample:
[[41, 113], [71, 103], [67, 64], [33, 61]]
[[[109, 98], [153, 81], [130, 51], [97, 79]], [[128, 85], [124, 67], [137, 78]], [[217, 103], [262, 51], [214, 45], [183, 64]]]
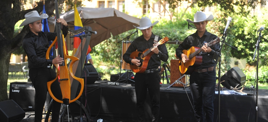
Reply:
[[[211, 47], [215, 44], [220, 43], [221, 39], [216, 38], [215, 40], [210, 41], [205, 46]], [[195, 67], [199, 67], [202, 63], [202, 55], [197, 55], [201, 52], [200, 47], [192, 46], [189, 50], [183, 50], [183, 54], [187, 55], [188, 62], [183, 63], [181, 60], [179, 60], [179, 69], [180, 72], [186, 75], [191, 75], [195, 69]]]

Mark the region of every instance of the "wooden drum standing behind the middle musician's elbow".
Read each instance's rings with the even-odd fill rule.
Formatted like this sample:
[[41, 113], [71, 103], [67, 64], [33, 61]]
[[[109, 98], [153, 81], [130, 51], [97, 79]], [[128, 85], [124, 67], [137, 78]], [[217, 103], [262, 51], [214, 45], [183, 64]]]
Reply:
[[131, 42], [132, 41], [122, 41], [122, 57], [121, 57], [121, 59], [123, 62], [121, 65], [121, 70], [131, 71], [130, 65], [123, 60], [123, 55], [126, 53], [126, 50], [128, 49]]

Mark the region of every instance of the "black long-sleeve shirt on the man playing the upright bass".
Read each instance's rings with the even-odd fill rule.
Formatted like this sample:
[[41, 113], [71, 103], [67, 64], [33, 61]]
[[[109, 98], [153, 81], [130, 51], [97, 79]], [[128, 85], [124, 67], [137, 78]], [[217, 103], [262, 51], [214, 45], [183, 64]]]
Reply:
[[[62, 33], [64, 37], [67, 35], [68, 27], [62, 25]], [[29, 31], [23, 38], [22, 47], [28, 57], [29, 68], [41, 68], [52, 66], [53, 59], [46, 59], [48, 41], [54, 41], [57, 33], [40, 32], [38, 35]]]

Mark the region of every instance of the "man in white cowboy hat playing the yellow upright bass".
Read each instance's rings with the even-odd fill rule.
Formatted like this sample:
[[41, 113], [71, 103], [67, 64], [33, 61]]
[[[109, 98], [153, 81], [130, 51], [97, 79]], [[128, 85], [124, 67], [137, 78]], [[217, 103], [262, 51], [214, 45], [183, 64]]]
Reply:
[[[63, 58], [59, 56], [52, 59], [46, 59], [48, 41], [54, 41], [57, 33], [42, 32], [42, 19], [48, 17], [47, 14], [39, 15], [36, 10], [27, 13], [25, 20], [20, 26], [29, 26], [29, 33], [25, 35], [22, 47], [28, 57], [29, 77], [34, 85], [36, 92], [35, 102], [35, 122], [42, 121], [43, 107], [47, 96], [47, 82], [56, 78], [56, 73], [51, 69], [52, 64], [62, 64]], [[61, 30], [64, 36], [67, 35], [67, 23], [64, 19], [58, 19], [61, 23]], [[62, 99], [59, 82], [53, 82], [51, 90], [55, 97]], [[52, 122], [59, 121], [59, 112], [61, 103], [54, 101], [52, 103]]]

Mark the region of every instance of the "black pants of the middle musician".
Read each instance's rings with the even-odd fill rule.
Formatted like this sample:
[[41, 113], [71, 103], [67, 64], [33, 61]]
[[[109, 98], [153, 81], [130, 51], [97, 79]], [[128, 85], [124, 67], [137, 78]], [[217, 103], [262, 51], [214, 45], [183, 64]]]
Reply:
[[136, 73], [135, 92], [137, 97], [137, 120], [144, 121], [144, 101], [146, 100], [147, 89], [152, 103], [152, 121], [157, 122], [160, 111], [160, 76], [158, 73]]

